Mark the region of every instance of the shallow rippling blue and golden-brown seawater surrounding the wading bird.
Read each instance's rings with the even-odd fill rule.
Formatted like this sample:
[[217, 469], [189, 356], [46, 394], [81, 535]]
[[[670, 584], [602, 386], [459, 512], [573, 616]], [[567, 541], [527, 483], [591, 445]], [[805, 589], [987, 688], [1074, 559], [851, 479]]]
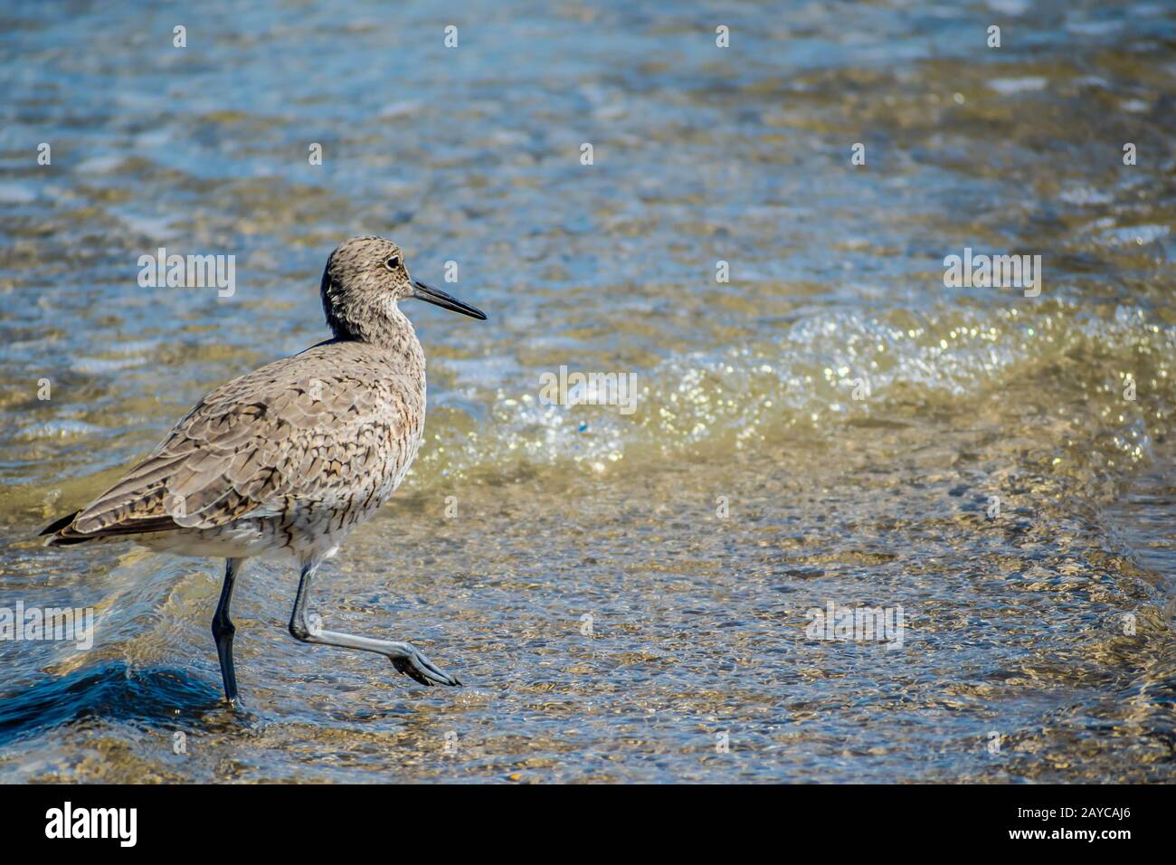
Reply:
[[[0, 641], [0, 780], [1172, 779], [1171, 4], [65, 8], [0, 13], [0, 606], [95, 640]], [[408, 308], [427, 440], [313, 606], [467, 687], [295, 643], [255, 563], [234, 714], [220, 563], [35, 534], [321, 340], [359, 233], [490, 320]]]

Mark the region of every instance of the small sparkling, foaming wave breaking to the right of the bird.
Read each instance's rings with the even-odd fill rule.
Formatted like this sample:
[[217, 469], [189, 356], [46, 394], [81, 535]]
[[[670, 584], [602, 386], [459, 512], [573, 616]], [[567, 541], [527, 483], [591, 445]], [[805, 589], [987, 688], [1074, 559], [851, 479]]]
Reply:
[[967, 411], [994, 388], [1054, 367], [1069, 375], [1063, 388], [1118, 399], [1108, 386], [1148, 373], [1141, 358], [1154, 365], [1155, 405], [1176, 401], [1176, 328], [1143, 308], [1097, 318], [1074, 302], [1042, 306], [813, 314], [775, 339], [670, 354], [633, 371], [629, 415], [606, 405], [546, 405], [537, 385], [516, 384], [485, 395], [483, 417], [470, 422], [459, 401], [442, 398], [466, 417], [430, 420], [440, 446], [422, 455], [419, 471], [569, 463], [601, 472], [635, 455], [754, 448], [797, 430], [868, 434], [863, 419]]

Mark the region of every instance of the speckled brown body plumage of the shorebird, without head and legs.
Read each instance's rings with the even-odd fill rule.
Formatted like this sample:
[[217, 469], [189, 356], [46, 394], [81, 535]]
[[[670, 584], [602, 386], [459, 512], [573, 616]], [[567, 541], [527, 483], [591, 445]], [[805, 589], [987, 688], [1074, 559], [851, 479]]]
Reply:
[[247, 538], [216, 531], [234, 527], [308, 550], [387, 501], [423, 428], [415, 337], [399, 351], [332, 340], [208, 393], [56, 537], [188, 530], [206, 541]]

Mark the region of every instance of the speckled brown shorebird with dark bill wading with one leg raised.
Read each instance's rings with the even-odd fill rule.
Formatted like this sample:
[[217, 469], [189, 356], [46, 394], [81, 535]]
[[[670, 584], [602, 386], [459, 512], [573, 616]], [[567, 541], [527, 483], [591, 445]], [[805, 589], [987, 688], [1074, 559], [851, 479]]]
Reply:
[[223, 557], [213, 639], [234, 706], [229, 603], [254, 557], [299, 564], [295, 639], [383, 654], [422, 685], [461, 684], [409, 643], [322, 630], [307, 601], [319, 566], [392, 497], [421, 444], [425, 352], [399, 301], [486, 315], [414, 280], [400, 248], [377, 237], [330, 253], [320, 291], [330, 339], [212, 391], [118, 484], [41, 532], [48, 546], [132, 540]]

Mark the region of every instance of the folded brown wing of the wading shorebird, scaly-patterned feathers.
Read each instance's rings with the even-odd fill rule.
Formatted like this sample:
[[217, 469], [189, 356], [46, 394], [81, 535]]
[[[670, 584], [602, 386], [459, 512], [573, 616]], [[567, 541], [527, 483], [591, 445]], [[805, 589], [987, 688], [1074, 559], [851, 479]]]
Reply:
[[[323, 498], [401, 439], [412, 408], [372, 370], [296, 355], [208, 393], [145, 460], [58, 531], [62, 540], [214, 528]], [[365, 380], [366, 379], [366, 380]]]

